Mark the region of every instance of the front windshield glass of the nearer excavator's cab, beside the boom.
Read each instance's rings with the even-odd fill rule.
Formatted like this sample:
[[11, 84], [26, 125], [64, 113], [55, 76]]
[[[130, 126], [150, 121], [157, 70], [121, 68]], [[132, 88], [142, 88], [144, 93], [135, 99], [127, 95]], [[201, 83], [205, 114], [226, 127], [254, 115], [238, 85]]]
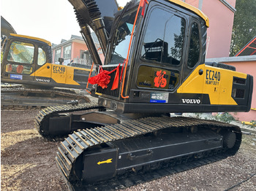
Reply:
[[128, 12], [118, 23], [111, 44], [112, 51], [108, 64], [124, 63], [124, 59], [127, 58], [136, 11], [136, 9], [133, 9], [131, 12]]

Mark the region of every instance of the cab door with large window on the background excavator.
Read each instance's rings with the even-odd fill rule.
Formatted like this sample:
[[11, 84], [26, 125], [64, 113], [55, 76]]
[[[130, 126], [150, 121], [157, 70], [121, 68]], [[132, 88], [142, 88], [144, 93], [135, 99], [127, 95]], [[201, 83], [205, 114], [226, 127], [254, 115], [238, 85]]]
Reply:
[[12, 39], [4, 52], [2, 81], [30, 83], [34, 81], [36, 47], [26, 40]]

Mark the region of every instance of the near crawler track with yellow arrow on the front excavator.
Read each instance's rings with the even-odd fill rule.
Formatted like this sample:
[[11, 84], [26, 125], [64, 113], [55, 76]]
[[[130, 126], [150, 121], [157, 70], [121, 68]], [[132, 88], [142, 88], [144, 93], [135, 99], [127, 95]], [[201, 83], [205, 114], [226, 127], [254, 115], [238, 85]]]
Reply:
[[234, 154], [240, 144], [241, 131], [235, 125], [189, 117], [143, 117], [75, 131], [61, 142], [56, 161], [71, 184], [88, 184], [181, 158]]

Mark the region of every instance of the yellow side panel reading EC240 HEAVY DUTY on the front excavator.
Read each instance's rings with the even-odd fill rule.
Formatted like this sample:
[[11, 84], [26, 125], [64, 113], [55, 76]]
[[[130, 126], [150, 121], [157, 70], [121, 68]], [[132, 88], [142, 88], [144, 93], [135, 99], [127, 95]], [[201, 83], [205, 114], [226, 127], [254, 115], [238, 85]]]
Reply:
[[[200, 70], [203, 70], [202, 75]], [[231, 96], [233, 77], [246, 79], [246, 74], [203, 64], [178, 87], [177, 93], [203, 93], [209, 95], [213, 105], [237, 105]]]

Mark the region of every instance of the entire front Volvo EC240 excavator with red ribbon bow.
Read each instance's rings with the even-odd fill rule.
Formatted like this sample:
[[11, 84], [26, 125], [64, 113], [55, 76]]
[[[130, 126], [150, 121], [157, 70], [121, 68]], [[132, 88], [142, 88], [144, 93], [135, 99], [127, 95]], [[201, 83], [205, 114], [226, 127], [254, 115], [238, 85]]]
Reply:
[[170, 117], [250, 109], [253, 77], [205, 62], [209, 21], [203, 12], [179, 0], [132, 0], [124, 8], [110, 0], [69, 2], [98, 66], [89, 79], [98, 103], [51, 106], [35, 122], [48, 139], [66, 136], [56, 163], [69, 183], [91, 184], [220, 152], [235, 155], [238, 126]]

